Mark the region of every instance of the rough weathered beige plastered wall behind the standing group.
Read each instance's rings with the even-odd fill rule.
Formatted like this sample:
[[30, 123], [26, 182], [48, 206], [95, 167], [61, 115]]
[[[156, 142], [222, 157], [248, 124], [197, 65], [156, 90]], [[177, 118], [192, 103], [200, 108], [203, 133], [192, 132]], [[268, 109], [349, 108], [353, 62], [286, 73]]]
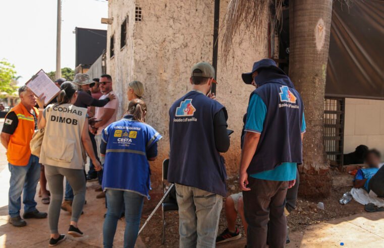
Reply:
[[[220, 23], [228, 2], [221, 1]], [[135, 7], [142, 10], [142, 21], [135, 21]], [[139, 80], [145, 85], [144, 101], [148, 106], [146, 121], [164, 138], [159, 143], [158, 160], [151, 163], [152, 183], [159, 185], [161, 162], [169, 153], [169, 108], [190, 89], [190, 68], [198, 61], [212, 61], [213, 0], [110, 0], [107, 47], [115, 34], [115, 56], [107, 50], [107, 73], [114, 79], [114, 89], [120, 99], [119, 115], [128, 105], [127, 83]], [[129, 16], [127, 45], [120, 49], [120, 25]], [[252, 86], [246, 86], [241, 73], [251, 70], [255, 60], [267, 56], [267, 24], [260, 38], [250, 43], [252, 31], [242, 30], [236, 37], [227, 64], [221, 60], [219, 44], [217, 66], [217, 100], [228, 110], [231, 148], [225, 154], [228, 174], [235, 175], [240, 162], [240, 134]], [[220, 30], [222, 34], [222, 30]], [[243, 39], [241, 45], [239, 40]], [[183, 141], [180, 141], [183, 142]], [[185, 142], [185, 141], [184, 141]]]

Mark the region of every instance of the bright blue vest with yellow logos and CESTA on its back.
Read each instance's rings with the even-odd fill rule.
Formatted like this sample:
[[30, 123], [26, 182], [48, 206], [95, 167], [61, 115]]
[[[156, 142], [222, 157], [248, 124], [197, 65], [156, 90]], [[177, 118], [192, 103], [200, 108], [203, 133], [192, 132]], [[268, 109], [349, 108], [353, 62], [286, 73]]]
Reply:
[[146, 123], [126, 115], [102, 132], [106, 143], [102, 188], [135, 192], [150, 199], [149, 162], [146, 151], [161, 139]]

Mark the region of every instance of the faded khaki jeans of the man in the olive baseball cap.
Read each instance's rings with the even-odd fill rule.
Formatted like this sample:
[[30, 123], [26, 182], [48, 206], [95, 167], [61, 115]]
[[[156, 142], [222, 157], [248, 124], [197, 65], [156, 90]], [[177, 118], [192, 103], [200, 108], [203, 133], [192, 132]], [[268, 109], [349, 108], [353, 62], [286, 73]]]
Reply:
[[195, 187], [175, 185], [180, 248], [215, 247], [223, 197]]

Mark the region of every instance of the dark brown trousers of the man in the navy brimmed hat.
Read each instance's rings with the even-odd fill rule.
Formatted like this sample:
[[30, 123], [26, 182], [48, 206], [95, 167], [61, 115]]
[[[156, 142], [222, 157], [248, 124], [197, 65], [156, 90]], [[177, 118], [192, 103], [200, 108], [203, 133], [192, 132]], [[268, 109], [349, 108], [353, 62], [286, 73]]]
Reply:
[[248, 177], [250, 191], [243, 191], [244, 215], [248, 223], [247, 247], [285, 247], [287, 218], [284, 215], [287, 181], [268, 181]]

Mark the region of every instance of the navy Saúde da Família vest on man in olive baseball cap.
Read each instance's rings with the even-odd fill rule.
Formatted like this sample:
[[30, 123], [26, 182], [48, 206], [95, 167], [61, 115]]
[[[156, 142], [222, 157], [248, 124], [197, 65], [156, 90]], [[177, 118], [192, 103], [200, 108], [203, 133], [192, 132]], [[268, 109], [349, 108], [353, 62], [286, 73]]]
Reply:
[[216, 150], [213, 117], [225, 107], [190, 91], [170, 109], [170, 182], [226, 196], [227, 172]]

